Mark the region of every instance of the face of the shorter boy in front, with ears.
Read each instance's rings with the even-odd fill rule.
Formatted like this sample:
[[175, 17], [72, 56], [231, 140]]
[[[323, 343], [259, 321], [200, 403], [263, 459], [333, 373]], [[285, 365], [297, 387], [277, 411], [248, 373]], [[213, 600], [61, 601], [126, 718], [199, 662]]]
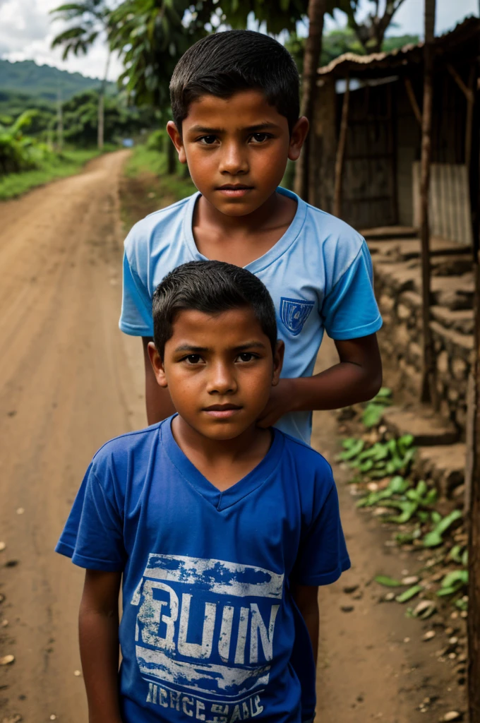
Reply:
[[153, 343], [149, 352], [181, 419], [203, 437], [231, 440], [254, 425], [278, 384], [283, 342], [273, 355], [252, 309], [192, 310], [176, 317], [163, 360]]

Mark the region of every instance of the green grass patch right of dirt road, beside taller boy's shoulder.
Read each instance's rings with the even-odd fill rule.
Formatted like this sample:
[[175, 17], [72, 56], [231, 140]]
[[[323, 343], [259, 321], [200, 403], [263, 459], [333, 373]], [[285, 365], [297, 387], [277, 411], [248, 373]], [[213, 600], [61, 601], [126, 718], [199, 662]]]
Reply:
[[137, 145], [127, 161], [124, 174], [131, 179], [138, 178], [142, 174], [158, 176], [161, 179], [162, 192], [172, 196], [176, 201], [192, 195], [197, 190], [192, 179], [189, 176], [184, 177], [185, 166], [181, 163], [177, 162], [176, 174], [171, 176], [166, 174], [166, 167], [165, 153], [150, 150], [146, 145]]

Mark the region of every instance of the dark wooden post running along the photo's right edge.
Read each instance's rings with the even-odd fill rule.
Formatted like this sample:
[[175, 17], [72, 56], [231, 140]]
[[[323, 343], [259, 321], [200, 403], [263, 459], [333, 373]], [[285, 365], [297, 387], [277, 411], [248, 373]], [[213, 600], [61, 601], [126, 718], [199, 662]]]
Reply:
[[[480, 45], [480, 43], [479, 43]], [[479, 48], [480, 49], [480, 48]], [[473, 275], [475, 296], [473, 298], [474, 318], [474, 359], [473, 390], [471, 390], [471, 434], [472, 448], [467, 450], [470, 459], [468, 471], [471, 480], [466, 500], [468, 504], [468, 714], [470, 723], [480, 723], [480, 97], [478, 79], [480, 67], [474, 65], [470, 163], [470, 200], [473, 231]], [[468, 159], [466, 158], [468, 164]]]

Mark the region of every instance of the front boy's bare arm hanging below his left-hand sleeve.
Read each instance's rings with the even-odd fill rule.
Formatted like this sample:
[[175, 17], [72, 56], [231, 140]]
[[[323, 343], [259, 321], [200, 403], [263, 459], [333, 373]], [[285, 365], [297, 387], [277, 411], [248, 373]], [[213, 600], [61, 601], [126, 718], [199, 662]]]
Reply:
[[79, 637], [89, 723], [121, 723], [119, 589], [121, 573], [86, 570]]

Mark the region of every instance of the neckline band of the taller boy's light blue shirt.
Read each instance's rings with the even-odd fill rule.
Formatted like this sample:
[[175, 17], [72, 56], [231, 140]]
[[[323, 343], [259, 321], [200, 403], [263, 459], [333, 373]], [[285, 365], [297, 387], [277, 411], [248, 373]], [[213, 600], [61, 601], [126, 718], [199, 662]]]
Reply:
[[[308, 205], [304, 202], [304, 200], [302, 200], [292, 191], [288, 191], [288, 189], [282, 188], [281, 186], [278, 186], [277, 192], [283, 196], [288, 196], [288, 198], [292, 198], [294, 201], [296, 201], [296, 213], [293, 216], [293, 221], [291, 222], [290, 226], [288, 226], [285, 234], [283, 234], [283, 236], [280, 236], [280, 239], [278, 239], [276, 244], [273, 244], [273, 247], [271, 249], [268, 249], [265, 254], [263, 254], [257, 259], [254, 259], [249, 264], [247, 264], [247, 266], [244, 267], [255, 274], [262, 271], [262, 269], [267, 268], [267, 266], [270, 266], [271, 263], [277, 260], [282, 254], [286, 252], [289, 247], [291, 247], [291, 244], [293, 244], [293, 241], [295, 241], [301, 231], [301, 228], [304, 226], [305, 218], [307, 216]], [[187, 203], [183, 223], [184, 239], [187, 243], [190, 254], [192, 254], [193, 259], [199, 261], [207, 261], [207, 257], [201, 254], [200, 251], [197, 249], [197, 244], [195, 244], [192, 226], [195, 204], [197, 203], [197, 200], [200, 198], [200, 196], [200, 191], [197, 191], [197, 193], [194, 193], [193, 196], [189, 198], [189, 201]]]

